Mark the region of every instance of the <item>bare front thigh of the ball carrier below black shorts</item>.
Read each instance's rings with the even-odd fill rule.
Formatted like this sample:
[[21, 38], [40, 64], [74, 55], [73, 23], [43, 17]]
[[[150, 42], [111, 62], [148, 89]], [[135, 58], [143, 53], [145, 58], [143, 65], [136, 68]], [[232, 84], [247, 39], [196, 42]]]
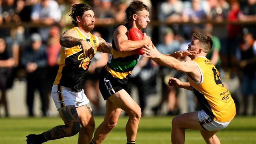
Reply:
[[114, 103], [117, 107], [120, 107], [126, 113], [140, 113], [141, 108], [139, 105], [131, 98], [131, 96], [126, 92], [126, 90], [122, 89], [111, 95], [108, 98], [109, 101]]

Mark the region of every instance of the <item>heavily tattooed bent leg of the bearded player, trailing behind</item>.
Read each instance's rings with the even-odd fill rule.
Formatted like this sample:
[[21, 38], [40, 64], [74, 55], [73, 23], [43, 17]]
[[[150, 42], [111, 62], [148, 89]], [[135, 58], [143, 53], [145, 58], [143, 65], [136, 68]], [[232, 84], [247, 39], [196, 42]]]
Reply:
[[65, 125], [56, 126], [45, 132], [46, 140], [54, 140], [63, 137], [70, 137], [76, 135], [80, 131], [80, 122], [76, 107], [69, 105], [59, 109], [59, 115], [64, 121]]

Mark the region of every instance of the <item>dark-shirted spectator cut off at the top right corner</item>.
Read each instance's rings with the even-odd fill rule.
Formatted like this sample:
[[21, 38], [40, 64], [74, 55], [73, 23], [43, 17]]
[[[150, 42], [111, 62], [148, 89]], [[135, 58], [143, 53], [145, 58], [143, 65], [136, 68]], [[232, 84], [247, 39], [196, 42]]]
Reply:
[[[239, 13], [238, 19], [242, 22], [255, 22], [256, 21], [256, 0], [247, 0], [247, 5], [243, 7], [242, 13]], [[255, 24], [245, 25], [254, 39], [256, 39]]]

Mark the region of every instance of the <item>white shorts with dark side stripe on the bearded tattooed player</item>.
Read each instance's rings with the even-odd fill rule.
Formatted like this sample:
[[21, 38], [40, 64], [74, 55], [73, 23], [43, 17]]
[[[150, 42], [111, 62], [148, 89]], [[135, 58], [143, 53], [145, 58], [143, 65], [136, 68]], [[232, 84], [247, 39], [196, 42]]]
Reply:
[[58, 88], [58, 85], [52, 86], [52, 99], [57, 110], [67, 105], [80, 107], [89, 103], [89, 99], [84, 94], [83, 89], [80, 92], [74, 92], [68, 87], [60, 86]]

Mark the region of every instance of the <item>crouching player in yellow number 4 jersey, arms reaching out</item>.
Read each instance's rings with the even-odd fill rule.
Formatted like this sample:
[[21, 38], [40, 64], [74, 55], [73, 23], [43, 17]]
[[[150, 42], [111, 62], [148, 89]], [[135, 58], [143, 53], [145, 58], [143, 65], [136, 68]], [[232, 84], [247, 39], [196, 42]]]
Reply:
[[184, 51], [163, 55], [154, 45], [143, 48], [145, 57], [152, 58], [159, 65], [185, 72], [189, 82], [176, 78], [169, 79], [169, 85], [194, 91], [202, 110], [180, 114], [172, 120], [172, 144], [184, 144], [185, 129], [200, 130], [207, 144], [220, 144], [215, 135], [224, 129], [236, 115], [236, 107], [230, 92], [221, 82], [219, 72], [209, 59], [207, 53], [212, 46], [212, 39], [202, 33], [193, 33], [191, 43], [185, 52], [191, 60], [181, 61], [178, 57], [187, 55]]

